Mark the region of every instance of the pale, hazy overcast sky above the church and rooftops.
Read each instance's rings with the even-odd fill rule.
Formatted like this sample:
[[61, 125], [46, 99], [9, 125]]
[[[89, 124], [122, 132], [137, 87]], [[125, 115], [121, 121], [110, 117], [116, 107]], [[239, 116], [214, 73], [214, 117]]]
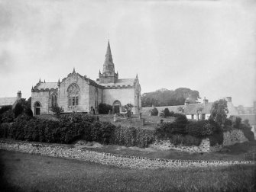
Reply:
[[0, 98], [31, 97], [75, 67], [96, 80], [108, 40], [119, 78], [141, 93], [190, 88], [256, 101], [256, 1], [0, 0]]

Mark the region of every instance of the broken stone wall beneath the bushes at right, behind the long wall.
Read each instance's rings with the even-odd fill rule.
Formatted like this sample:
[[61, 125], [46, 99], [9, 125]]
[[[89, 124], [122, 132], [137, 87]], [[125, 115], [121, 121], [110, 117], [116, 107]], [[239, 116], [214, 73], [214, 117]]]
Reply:
[[223, 148], [223, 146], [232, 146], [235, 143], [248, 142], [244, 133], [241, 130], [231, 130], [223, 133], [223, 143], [222, 145], [210, 146], [209, 138], [203, 139], [199, 146], [183, 146], [183, 145], [173, 145], [169, 140], [156, 141], [151, 147], [160, 150], [175, 149], [182, 152], [217, 152]]

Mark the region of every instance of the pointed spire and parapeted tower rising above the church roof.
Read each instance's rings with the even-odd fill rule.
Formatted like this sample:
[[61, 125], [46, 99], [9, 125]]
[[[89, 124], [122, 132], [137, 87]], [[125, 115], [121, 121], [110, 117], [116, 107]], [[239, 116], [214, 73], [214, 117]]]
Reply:
[[118, 79], [118, 72], [115, 73], [115, 65], [112, 59], [110, 44], [108, 42], [107, 52], [105, 53], [105, 62], [103, 72], [99, 71], [99, 83], [115, 83]]

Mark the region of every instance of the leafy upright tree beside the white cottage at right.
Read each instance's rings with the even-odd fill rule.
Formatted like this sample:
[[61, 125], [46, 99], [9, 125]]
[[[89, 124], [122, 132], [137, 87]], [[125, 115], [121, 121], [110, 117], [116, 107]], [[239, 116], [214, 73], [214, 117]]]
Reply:
[[222, 126], [227, 119], [228, 105], [225, 99], [220, 99], [212, 104], [211, 115], [209, 119], [214, 120], [219, 126]]

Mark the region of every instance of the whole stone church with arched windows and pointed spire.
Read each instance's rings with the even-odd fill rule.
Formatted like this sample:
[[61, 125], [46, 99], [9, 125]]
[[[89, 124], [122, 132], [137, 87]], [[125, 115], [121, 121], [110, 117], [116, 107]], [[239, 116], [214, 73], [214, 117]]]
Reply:
[[99, 104], [112, 105], [112, 113], [132, 104], [133, 114], [141, 108], [141, 85], [136, 78], [118, 78], [108, 43], [102, 73], [93, 81], [86, 75], [73, 72], [58, 82], [39, 82], [31, 89], [31, 109], [34, 115], [51, 114], [51, 107], [62, 107], [64, 112], [98, 112]]

